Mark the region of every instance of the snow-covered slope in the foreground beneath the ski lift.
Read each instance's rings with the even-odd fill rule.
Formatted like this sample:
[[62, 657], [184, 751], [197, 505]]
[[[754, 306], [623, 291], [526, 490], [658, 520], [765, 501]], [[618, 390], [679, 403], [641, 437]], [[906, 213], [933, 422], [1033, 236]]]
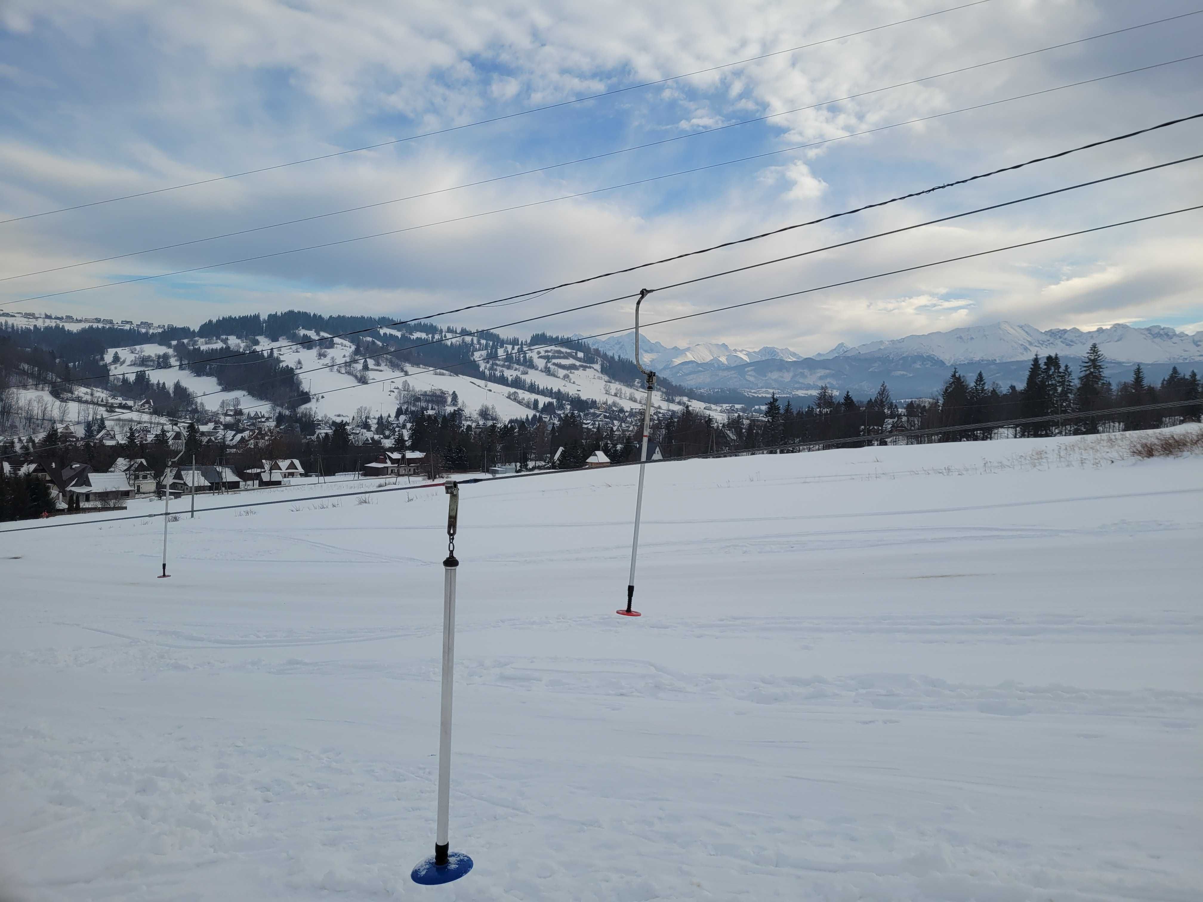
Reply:
[[1197, 900], [1203, 458], [1116, 447], [656, 464], [640, 619], [634, 469], [464, 487], [442, 890], [440, 489], [2, 535], [0, 897]]

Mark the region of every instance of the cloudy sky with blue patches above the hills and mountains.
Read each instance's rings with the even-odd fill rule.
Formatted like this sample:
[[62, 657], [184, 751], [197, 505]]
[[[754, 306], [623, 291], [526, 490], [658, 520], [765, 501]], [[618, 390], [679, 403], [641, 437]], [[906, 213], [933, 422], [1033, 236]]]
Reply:
[[[192, 325], [289, 308], [426, 315], [740, 238], [1203, 112], [1203, 59], [1157, 65], [1203, 52], [1203, 14], [978, 65], [1192, 4], [0, 0], [0, 219], [23, 218], [0, 224], [0, 309]], [[938, 14], [890, 25], [925, 13]], [[966, 66], [977, 67], [891, 87]], [[510, 115], [698, 70], [710, 71]], [[1045, 93], [1007, 100], [1035, 91]], [[861, 96], [824, 102], [848, 95]], [[472, 125], [496, 117], [510, 118]], [[470, 127], [398, 141], [455, 126]], [[611, 153], [666, 138], [680, 140]], [[369, 144], [384, 146], [96, 203]], [[790, 149], [801, 144], [812, 146]], [[1203, 120], [443, 321], [500, 325], [1196, 153]], [[558, 165], [598, 154], [610, 155]], [[541, 171], [515, 176], [529, 170]], [[1201, 174], [1203, 161], [1186, 162], [666, 290], [648, 315], [1199, 204]], [[488, 179], [499, 180], [463, 186]], [[53, 213], [77, 204], [93, 206]], [[378, 206], [321, 215], [365, 204]], [[259, 229], [310, 216], [321, 218]], [[1196, 331], [1201, 235], [1203, 212], [1184, 213], [650, 332], [814, 352], [997, 320]], [[275, 256], [230, 263], [265, 254]], [[102, 286], [195, 267], [211, 268]], [[23, 301], [58, 292], [72, 293]], [[630, 309], [526, 331], [618, 328]]]

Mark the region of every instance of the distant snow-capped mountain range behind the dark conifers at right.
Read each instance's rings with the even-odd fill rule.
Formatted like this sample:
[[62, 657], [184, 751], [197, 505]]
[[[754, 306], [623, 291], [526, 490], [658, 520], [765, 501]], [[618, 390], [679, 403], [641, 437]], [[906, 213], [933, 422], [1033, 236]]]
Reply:
[[[1056, 354], [1077, 363], [1097, 343], [1116, 375], [1136, 363], [1151, 366], [1156, 376], [1172, 364], [1203, 362], [1203, 332], [1193, 336], [1167, 326], [1109, 326], [1084, 332], [1078, 328], [1038, 330], [1035, 326], [995, 322], [948, 332], [930, 332], [849, 348], [840, 343], [806, 357], [788, 348], [743, 350], [725, 344], [666, 348], [641, 340], [644, 366], [683, 386], [704, 388], [775, 388], [806, 393], [820, 385], [872, 391], [881, 381], [908, 394], [940, 387], [954, 367], [982, 369], [988, 379], [1006, 385], [1020, 380], [1032, 356]], [[610, 354], [634, 357], [630, 333], [589, 344]], [[1198, 368], [1203, 368], [1201, 364]], [[1160, 378], [1160, 376], [1157, 376]]]

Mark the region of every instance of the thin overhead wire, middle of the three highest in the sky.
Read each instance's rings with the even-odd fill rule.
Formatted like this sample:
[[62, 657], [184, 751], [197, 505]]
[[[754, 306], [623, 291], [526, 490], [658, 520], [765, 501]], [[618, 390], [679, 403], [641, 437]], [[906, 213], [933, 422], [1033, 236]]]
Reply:
[[912, 79], [906, 81], [906, 82], [896, 82], [895, 84], [889, 84], [889, 85], [885, 85], [883, 88], [873, 88], [871, 90], [864, 90], [864, 91], [859, 91], [857, 94], [848, 94], [848, 95], [842, 96], [842, 97], [834, 97], [831, 100], [819, 101], [818, 103], [810, 103], [810, 105], [802, 106], [802, 107], [794, 107], [793, 109], [783, 109], [783, 111], [781, 111], [778, 113], [769, 113], [766, 115], [758, 115], [758, 117], [754, 117], [754, 118], [751, 118], [751, 119], [741, 119], [741, 120], [735, 121], [735, 123], [728, 123], [725, 125], [716, 125], [716, 126], [710, 127], [710, 129], [698, 129], [697, 131], [691, 131], [691, 132], [688, 132], [686, 135], [676, 135], [676, 136], [670, 137], [670, 138], [660, 138], [659, 141], [650, 141], [650, 142], [646, 142], [646, 143], [642, 143], [642, 144], [633, 144], [630, 147], [620, 148], [618, 150], [608, 150], [605, 153], [592, 154], [589, 156], [580, 156], [580, 158], [577, 158], [575, 160], [565, 160], [563, 162], [555, 162], [555, 164], [550, 164], [547, 166], [539, 166], [539, 167], [531, 168], [531, 170], [523, 170], [521, 172], [511, 172], [511, 173], [505, 174], [505, 176], [494, 176], [494, 177], [491, 177], [491, 178], [479, 179], [476, 182], [466, 182], [463, 184], [451, 185], [449, 188], [433, 189], [433, 190], [429, 190], [429, 191], [422, 191], [420, 194], [411, 194], [411, 195], [407, 195], [404, 197], [393, 197], [393, 198], [387, 200], [387, 201], [375, 201], [373, 203], [365, 203], [365, 204], [360, 204], [357, 207], [346, 207], [344, 209], [331, 210], [328, 213], [318, 213], [318, 214], [314, 214], [314, 215], [310, 215], [310, 216], [300, 216], [297, 219], [286, 219], [286, 220], [283, 220], [280, 222], [272, 222], [272, 224], [268, 224], [268, 225], [253, 226], [250, 229], [239, 229], [239, 230], [236, 230], [236, 231], [232, 231], [232, 232], [223, 232], [220, 235], [211, 235], [211, 236], [207, 236], [205, 238], [192, 238], [192, 239], [184, 241], [184, 242], [174, 242], [172, 244], [160, 244], [160, 245], [158, 245], [155, 248], [146, 248], [143, 250], [131, 250], [131, 251], [125, 253], [125, 254], [114, 254], [114, 255], [107, 256], [107, 257], [96, 257], [94, 260], [84, 260], [84, 261], [81, 261], [78, 263], [65, 263], [63, 266], [54, 266], [54, 267], [49, 267], [47, 269], [35, 269], [35, 271], [31, 271], [31, 272], [28, 272], [28, 273], [18, 273], [16, 275], [5, 275], [5, 277], [0, 277], [0, 281], [11, 281], [13, 279], [28, 279], [28, 278], [34, 277], [34, 275], [46, 275], [47, 273], [58, 273], [58, 272], [63, 272], [65, 269], [77, 269], [77, 268], [79, 268], [82, 266], [93, 266], [95, 263], [108, 263], [108, 262], [112, 262], [114, 260], [125, 260], [128, 257], [142, 256], [143, 254], [155, 254], [155, 253], [161, 251], [161, 250], [174, 250], [177, 248], [186, 248], [186, 247], [191, 247], [191, 245], [195, 245], [195, 244], [203, 244], [203, 243], [207, 243], [207, 242], [220, 241], [223, 238], [236, 238], [236, 237], [242, 236], [242, 235], [251, 235], [254, 232], [263, 232], [263, 231], [268, 231], [271, 229], [282, 229], [284, 226], [298, 225], [298, 224], [302, 224], [302, 222], [313, 222], [313, 221], [319, 220], [319, 219], [328, 219], [330, 216], [339, 216], [339, 215], [344, 215], [346, 213], [360, 213], [362, 210], [377, 209], [379, 207], [386, 207], [386, 206], [390, 206], [390, 204], [393, 204], [393, 203], [402, 203], [404, 201], [420, 200], [422, 197], [432, 197], [434, 195], [448, 194], [450, 191], [458, 191], [458, 190], [462, 190], [462, 189], [466, 189], [466, 188], [476, 188], [479, 185], [487, 185], [487, 184], [492, 184], [494, 182], [505, 182], [505, 180], [511, 179], [511, 178], [520, 178], [522, 176], [531, 176], [531, 174], [539, 173], [539, 172], [547, 172], [550, 170], [563, 168], [565, 166], [575, 166], [575, 165], [582, 164], [582, 162], [591, 162], [591, 161], [594, 161], [594, 160], [603, 160], [603, 159], [606, 159], [606, 158], [610, 158], [610, 156], [617, 156], [620, 154], [628, 154], [628, 153], [632, 153], [634, 150], [644, 150], [644, 149], [647, 149], [647, 148], [651, 148], [651, 147], [659, 147], [662, 144], [671, 144], [671, 143], [677, 142], [677, 141], [685, 141], [687, 138], [694, 138], [694, 137], [699, 137], [701, 135], [713, 135], [716, 132], [727, 131], [729, 129], [736, 129], [736, 127], [740, 127], [742, 125], [751, 125], [751, 124], [754, 124], [754, 123], [768, 121], [770, 119], [777, 119], [777, 118], [781, 118], [783, 115], [790, 115], [793, 113], [801, 113], [801, 112], [805, 112], [805, 111], [808, 111], [808, 109], [817, 109], [818, 107], [830, 106], [832, 103], [842, 103], [843, 101], [847, 101], [847, 100], [855, 100], [855, 99], [859, 99], [859, 97], [866, 97], [866, 96], [869, 96], [871, 94], [881, 94], [883, 91], [894, 90], [896, 88], [905, 88], [907, 85], [919, 84], [921, 82], [930, 82], [930, 81], [934, 81], [936, 78], [944, 78], [944, 77], [950, 76], [950, 75], [960, 75], [962, 72], [968, 72], [968, 71], [972, 71], [972, 70], [976, 70], [976, 69], [984, 69], [986, 66], [994, 66], [994, 65], [997, 65], [1000, 63], [1009, 63], [1009, 61], [1013, 61], [1013, 60], [1017, 60], [1017, 59], [1024, 59], [1026, 57], [1033, 57], [1033, 55], [1039, 54], [1039, 53], [1048, 53], [1050, 51], [1056, 51], [1056, 49], [1061, 49], [1061, 48], [1065, 48], [1065, 47], [1072, 47], [1072, 46], [1079, 44], [1079, 43], [1086, 43], [1088, 41], [1097, 41], [1097, 40], [1103, 38], [1103, 37], [1112, 37], [1114, 35], [1124, 34], [1126, 31], [1136, 31], [1138, 29], [1149, 28], [1151, 25], [1160, 25], [1160, 24], [1163, 24], [1163, 23], [1167, 23], [1167, 22], [1173, 22], [1175, 19], [1183, 19], [1183, 18], [1187, 18], [1190, 16], [1198, 16], [1201, 13], [1203, 13], [1203, 10], [1196, 10], [1193, 12], [1185, 12], [1185, 13], [1181, 13], [1179, 16], [1169, 16], [1169, 17], [1166, 17], [1166, 18], [1162, 18], [1162, 19], [1156, 19], [1154, 22], [1144, 22], [1144, 23], [1140, 23], [1138, 25], [1128, 25], [1127, 28], [1115, 29], [1113, 31], [1103, 31], [1103, 32], [1097, 34], [1097, 35], [1090, 35], [1088, 37], [1079, 37], [1079, 38], [1077, 38], [1074, 41], [1065, 41], [1062, 43], [1050, 44], [1048, 47], [1041, 47], [1041, 48], [1035, 49], [1035, 51], [1025, 51], [1024, 53], [1014, 53], [1014, 54], [1012, 54], [1009, 57], [1000, 57], [997, 59], [986, 60], [984, 63], [974, 63], [972, 65], [961, 66], [960, 69], [952, 69], [952, 70], [948, 70], [946, 72], [936, 72], [935, 75], [923, 76], [921, 78], [912, 78]]

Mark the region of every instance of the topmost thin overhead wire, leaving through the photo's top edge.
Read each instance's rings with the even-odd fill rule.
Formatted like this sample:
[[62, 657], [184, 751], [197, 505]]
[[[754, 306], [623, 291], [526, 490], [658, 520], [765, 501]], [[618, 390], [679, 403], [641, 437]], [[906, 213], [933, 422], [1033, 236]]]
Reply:
[[488, 119], [479, 119], [476, 121], [466, 123], [463, 125], [451, 125], [451, 126], [448, 126], [445, 129], [434, 129], [432, 131], [425, 131], [425, 132], [420, 132], [420, 133], [416, 133], [416, 135], [409, 135], [409, 136], [403, 137], [403, 138], [392, 138], [390, 141], [381, 141], [381, 142], [378, 142], [375, 144], [365, 144], [363, 147], [350, 148], [348, 150], [336, 150], [336, 152], [328, 153], [328, 154], [319, 154], [316, 156], [307, 156], [307, 158], [304, 158], [302, 160], [292, 160], [290, 162], [280, 162], [280, 164], [274, 164], [272, 166], [261, 166], [261, 167], [254, 168], [254, 170], [244, 170], [243, 172], [231, 172], [231, 173], [229, 173], [226, 176], [214, 176], [213, 178], [198, 179], [196, 182], [185, 182], [185, 183], [182, 183], [182, 184], [178, 184], [178, 185], [171, 185], [168, 188], [156, 188], [156, 189], [150, 190], [150, 191], [138, 191], [136, 194], [122, 195], [119, 197], [108, 197], [108, 198], [102, 200], [102, 201], [91, 201], [89, 203], [77, 203], [77, 204], [71, 206], [71, 207], [61, 207], [59, 209], [43, 210], [42, 213], [30, 213], [30, 214], [24, 215], [24, 216], [13, 216], [11, 219], [0, 220], [0, 225], [6, 225], [8, 222], [19, 222], [19, 221], [23, 221], [23, 220], [26, 220], [26, 219], [37, 219], [40, 216], [49, 216], [49, 215], [54, 215], [57, 213], [67, 213], [70, 210], [84, 209], [87, 207], [97, 207], [97, 206], [101, 206], [101, 204], [105, 204], [105, 203], [115, 203], [117, 201], [128, 201], [128, 200], [132, 200], [135, 197], [147, 197], [147, 196], [150, 196], [150, 195], [165, 194], [167, 191], [178, 191], [178, 190], [180, 190], [183, 188], [195, 188], [197, 185], [208, 185], [208, 184], [213, 184], [214, 182], [225, 182], [226, 179], [231, 179], [231, 178], [242, 178], [243, 176], [254, 176], [254, 174], [257, 174], [257, 173], [261, 173], [261, 172], [272, 172], [273, 170], [283, 170], [283, 168], [288, 168], [290, 166], [300, 166], [300, 165], [307, 164], [307, 162], [316, 162], [319, 160], [331, 160], [331, 159], [334, 159], [337, 156], [346, 156], [348, 154], [357, 154], [357, 153], [362, 153], [365, 150], [375, 150], [375, 149], [379, 149], [381, 147], [391, 147], [393, 144], [403, 144], [403, 143], [407, 143], [409, 141], [416, 141], [419, 138], [433, 137], [435, 135], [446, 135], [446, 133], [454, 132], [454, 131], [463, 131], [464, 129], [474, 129], [474, 127], [476, 127], [479, 125], [487, 125], [490, 123], [499, 123], [499, 121], [504, 121], [506, 119], [516, 119], [518, 117], [531, 115], [532, 113], [541, 113], [541, 112], [545, 112], [547, 109], [558, 109], [559, 107], [573, 106], [574, 103], [583, 103], [585, 101], [588, 101], [588, 100], [599, 100], [600, 97], [610, 97], [610, 96], [614, 96], [616, 94], [626, 94], [628, 91], [640, 90], [642, 88], [652, 88], [652, 87], [656, 87], [658, 84], [666, 84], [669, 82], [680, 81], [682, 78], [692, 78], [693, 76], [705, 75], [707, 72], [717, 72], [717, 71], [723, 70], [723, 69], [731, 69], [733, 66], [742, 66], [742, 65], [747, 65], [748, 63], [755, 63], [758, 60], [769, 59], [770, 57], [780, 57], [780, 55], [783, 55], [783, 54], [787, 54], [787, 53], [796, 53], [798, 51], [805, 51], [805, 49], [808, 49], [811, 47], [818, 47], [818, 46], [824, 44], [824, 43], [832, 43], [835, 41], [843, 41], [843, 40], [848, 38], [848, 37], [858, 37], [860, 35], [867, 35], [867, 34], [871, 34], [873, 31], [882, 31], [882, 30], [888, 29], [888, 28], [895, 28], [896, 25], [905, 25], [905, 24], [911, 23], [911, 22], [919, 22], [920, 19], [932, 18], [934, 16], [943, 16], [944, 13], [955, 12], [958, 10], [965, 10], [965, 8], [968, 8], [971, 6], [982, 6], [982, 5], [988, 4], [990, 1], [991, 0], [973, 0], [973, 2], [961, 4], [959, 6], [950, 6], [950, 7], [947, 7], [944, 10], [936, 10], [935, 12], [923, 13], [921, 16], [912, 16], [912, 17], [906, 18], [906, 19], [897, 19], [896, 22], [888, 22], [888, 23], [885, 23], [883, 25], [873, 25], [872, 28], [860, 29], [859, 31], [849, 31], [847, 34], [837, 35], [835, 37], [825, 37], [825, 38], [823, 38], [820, 41], [812, 41], [810, 43], [798, 44], [796, 47], [787, 47], [783, 51], [774, 51], [771, 53], [761, 53], [761, 54], [759, 54], [757, 57], [748, 57], [746, 59], [735, 60], [733, 63], [723, 63], [723, 64], [717, 65], [717, 66], [709, 66], [706, 69], [698, 69], [698, 70], [694, 70], [692, 72], [683, 72], [681, 75], [669, 76], [666, 78], [657, 78], [657, 79], [650, 81], [650, 82], [640, 82], [638, 84], [627, 85], [626, 88], [615, 88], [612, 90], [599, 91], [597, 94], [587, 94], [587, 95], [581, 96], [581, 97], [574, 97], [573, 100], [564, 100], [564, 101], [559, 101], [558, 103], [546, 103], [544, 106], [532, 107], [529, 109], [522, 109], [522, 111], [516, 112], [516, 113], [506, 113], [505, 115], [494, 115], [494, 117], [491, 117]]

